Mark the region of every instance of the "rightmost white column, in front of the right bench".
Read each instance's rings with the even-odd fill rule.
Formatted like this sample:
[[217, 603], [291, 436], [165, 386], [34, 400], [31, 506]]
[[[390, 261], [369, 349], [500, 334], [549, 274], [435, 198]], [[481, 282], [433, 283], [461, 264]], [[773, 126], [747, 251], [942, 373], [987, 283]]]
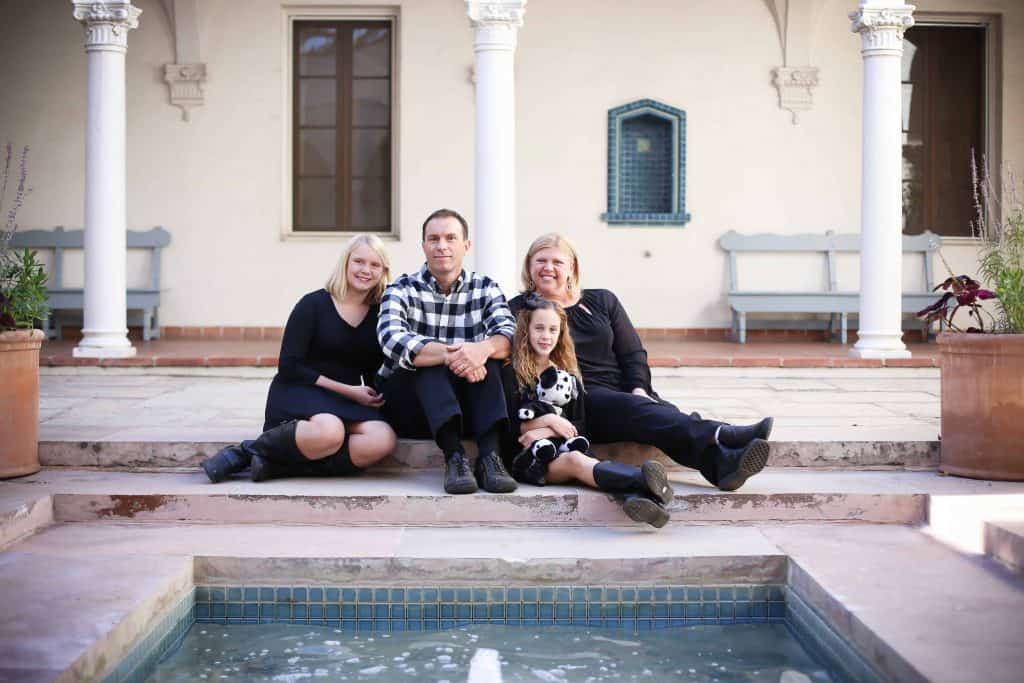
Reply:
[[860, 201], [860, 326], [850, 354], [907, 358], [903, 344], [902, 92], [903, 32], [913, 5], [861, 0], [850, 14], [864, 57]]

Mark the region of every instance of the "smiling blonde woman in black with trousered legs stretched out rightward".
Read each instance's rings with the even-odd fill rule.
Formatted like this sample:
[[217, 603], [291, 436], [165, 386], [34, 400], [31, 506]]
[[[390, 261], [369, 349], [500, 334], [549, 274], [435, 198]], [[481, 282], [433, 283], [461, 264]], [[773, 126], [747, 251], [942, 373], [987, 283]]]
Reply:
[[[635, 441], [660, 449], [680, 465], [698, 470], [722, 490], [735, 490], [768, 461], [772, 419], [733, 426], [682, 413], [654, 393], [647, 351], [629, 315], [608, 290], [580, 287], [580, 259], [560, 234], [530, 245], [522, 267], [526, 293], [559, 303], [568, 317], [587, 386], [585, 410], [597, 443]], [[509, 302], [513, 313], [524, 294]], [[527, 430], [545, 426], [526, 423]]]

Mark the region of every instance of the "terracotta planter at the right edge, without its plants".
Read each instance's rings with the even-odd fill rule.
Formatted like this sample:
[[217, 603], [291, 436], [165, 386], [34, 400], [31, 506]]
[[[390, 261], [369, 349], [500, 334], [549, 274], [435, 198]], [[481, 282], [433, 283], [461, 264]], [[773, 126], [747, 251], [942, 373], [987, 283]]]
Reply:
[[1024, 481], [1024, 335], [939, 335], [939, 469]]

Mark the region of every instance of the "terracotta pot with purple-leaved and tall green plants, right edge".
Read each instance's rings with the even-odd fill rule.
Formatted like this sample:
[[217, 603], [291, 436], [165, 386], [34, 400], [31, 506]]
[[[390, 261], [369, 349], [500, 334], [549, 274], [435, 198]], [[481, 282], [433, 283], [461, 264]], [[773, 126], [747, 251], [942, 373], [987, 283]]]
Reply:
[[[942, 446], [939, 469], [978, 479], [1024, 480], [1024, 205], [1008, 168], [1001, 201], [988, 173], [973, 174], [982, 239], [979, 272], [991, 288], [967, 275], [947, 279], [942, 297], [919, 315], [943, 321], [941, 351]], [[981, 305], [992, 299], [995, 314]], [[970, 325], [955, 325], [967, 309]], [[988, 321], [986, 325], [985, 321]]]

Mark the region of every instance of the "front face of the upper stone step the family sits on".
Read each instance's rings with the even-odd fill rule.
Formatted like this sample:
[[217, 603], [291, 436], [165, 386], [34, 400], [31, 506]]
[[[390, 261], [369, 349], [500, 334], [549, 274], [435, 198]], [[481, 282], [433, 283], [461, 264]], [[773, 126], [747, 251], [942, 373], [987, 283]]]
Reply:
[[[196, 468], [205, 459], [234, 441], [210, 440], [44, 440], [39, 443], [39, 459], [45, 467], [161, 469]], [[476, 446], [466, 443], [470, 454]], [[639, 464], [660, 460], [667, 467], [677, 467], [653, 446], [639, 443], [607, 443], [594, 447], [598, 458]], [[772, 441], [770, 467], [842, 467], [853, 469], [903, 468], [935, 469], [939, 462], [938, 441]], [[384, 468], [430, 468], [443, 464], [440, 451], [432, 441], [399, 439], [395, 452], [381, 466]]]

